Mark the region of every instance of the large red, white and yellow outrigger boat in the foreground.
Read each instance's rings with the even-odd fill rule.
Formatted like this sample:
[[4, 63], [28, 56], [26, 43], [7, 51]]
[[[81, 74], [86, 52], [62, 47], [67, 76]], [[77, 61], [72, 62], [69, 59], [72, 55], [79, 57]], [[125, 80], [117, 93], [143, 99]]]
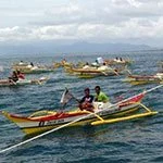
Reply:
[[[139, 102], [145, 97], [145, 93], [139, 93], [133, 98], [118, 102], [116, 104], [111, 104], [109, 102], [95, 102], [93, 111], [79, 110], [67, 112], [54, 112], [54, 111], [38, 111], [29, 116], [23, 116], [17, 114], [11, 114], [2, 111], [2, 114], [15, 123], [26, 135], [33, 135], [38, 133], [43, 133], [51, 130], [60, 126], [84, 126], [84, 125], [98, 125], [103, 122], [106, 123], [108, 120], [115, 120], [114, 117], [122, 118], [123, 115], [128, 115], [129, 113], [139, 109]], [[148, 111], [143, 113], [145, 116], [155, 114], [155, 112]], [[136, 115], [135, 117], [141, 117], [143, 114]], [[105, 121], [106, 118], [106, 121]], [[129, 118], [129, 116], [128, 116]], [[133, 118], [133, 117], [131, 117]], [[98, 123], [97, 120], [100, 120]], [[73, 122], [73, 123], [72, 123]], [[72, 124], [71, 124], [72, 123]], [[109, 123], [109, 122], [108, 122]], [[70, 125], [66, 125], [70, 124]]]

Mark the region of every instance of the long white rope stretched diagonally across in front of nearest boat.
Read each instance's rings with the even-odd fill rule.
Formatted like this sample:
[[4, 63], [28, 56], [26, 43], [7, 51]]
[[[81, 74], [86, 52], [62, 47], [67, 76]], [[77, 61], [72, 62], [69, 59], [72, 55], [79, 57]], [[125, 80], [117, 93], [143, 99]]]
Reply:
[[[151, 89], [149, 89], [149, 90], [146, 90], [146, 91], [143, 91], [143, 92], [145, 92], [145, 93], [151, 92], [151, 91], [153, 91], [153, 90], [155, 90], [155, 89], [158, 89], [158, 88], [160, 88], [160, 87], [162, 87], [162, 86], [163, 86], [163, 85], [159, 85], [159, 86], [153, 87], [153, 88], [151, 88]], [[142, 92], [141, 92], [141, 93], [142, 93]], [[76, 120], [74, 120], [73, 122], [70, 122], [70, 123], [67, 123], [67, 124], [61, 125], [61, 126], [59, 126], [59, 127], [57, 127], [57, 128], [53, 128], [53, 129], [51, 129], [51, 130], [48, 130], [48, 131], [46, 131], [46, 133], [43, 133], [43, 134], [40, 134], [40, 135], [38, 135], [38, 136], [35, 136], [35, 137], [33, 137], [33, 138], [27, 139], [27, 140], [25, 140], [25, 141], [22, 141], [22, 142], [20, 142], [20, 143], [16, 143], [16, 145], [14, 145], [14, 146], [11, 146], [11, 147], [9, 147], [9, 148], [5, 148], [5, 149], [1, 150], [0, 153], [7, 152], [7, 151], [12, 150], [12, 149], [14, 149], [14, 148], [17, 148], [17, 147], [20, 147], [20, 146], [23, 146], [23, 145], [25, 145], [25, 143], [28, 143], [28, 142], [30, 142], [30, 141], [33, 141], [33, 140], [36, 140], [36, 139], [40, 138], [40, 137], [43, 137], [43, 136], [46, 136], [46, 135], [48, 135], [48, 134], [51, 134], [51, 133], [53, 133], [53, 131], [55, 131], [55, 130], [59, 130], [59, 129], [64, 128], [64, 127], [71, 125], [71, 124], [74, 124], [74, 123], [76, 123], [76, 122], [78, 122], [78, 121], [80, 121], [80, 120], [83, 120], [83, 118], [89, 117], [89, 116], [91, 116], [91, 115], [95, 115], [95, 114], [97, 114], [97, 113], [100, 113], [101, 111], [108, 110], [108, 109], [110, 109], [110, 108], [112, 108], [112, 106], [115, 106], [115, 105], [117, 105], [117, 104], [121, 104], [121, 103], [123, 103], [123, 102], [126, 102], [126, 101], [128, 101], [128, 100], [130, 100], [130, 99], [133, 99], [133, 98], [135, 98], [135, 97], [137, 97], [137, 96], [139, 96], [139, 95], [141, 95], [141, 93], [138, 93], [138, 95], [133, 96], [133, 97], [130, 97], [130, 98], [124, 99], [124, 100], [122, 100], [122, 101], [120, 101], [120, 102], [117, 102], [117, 103], [111, 104], [111, 105], [110, 105], [109, 108], [106, 108], [106, 109], [103, 109], [103, 110], [100, 110], [100, 111], [97, 111], [97, 112], [92, 112], [92, 113], [90, 113], [90, 114], [88, 114], [88, 115], [86, 115], [86, 116], [82, 116], [82, 117], [79, 117], [79, 118], [76, 118]]]

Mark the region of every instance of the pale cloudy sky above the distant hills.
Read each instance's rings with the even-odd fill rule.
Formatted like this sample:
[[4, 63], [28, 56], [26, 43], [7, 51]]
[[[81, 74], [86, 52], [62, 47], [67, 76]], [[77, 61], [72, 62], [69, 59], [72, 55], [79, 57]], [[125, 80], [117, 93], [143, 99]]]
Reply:
[[0, 0], [0, 43], [45, 40], [163, 47], [163, 0]]

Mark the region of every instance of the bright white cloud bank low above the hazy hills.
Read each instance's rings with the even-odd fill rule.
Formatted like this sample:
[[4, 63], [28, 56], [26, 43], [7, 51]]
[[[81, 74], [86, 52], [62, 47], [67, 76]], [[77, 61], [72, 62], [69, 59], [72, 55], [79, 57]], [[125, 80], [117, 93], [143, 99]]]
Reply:
[[139, 37], [162, 37], [163, 18], [158, 22], [131, 18], [117, 25], [108, 24], [66, 24], [40, 27], [12, 27], [0, 29], [0, 40], [48, 40], [48, 39], [127, 39]]

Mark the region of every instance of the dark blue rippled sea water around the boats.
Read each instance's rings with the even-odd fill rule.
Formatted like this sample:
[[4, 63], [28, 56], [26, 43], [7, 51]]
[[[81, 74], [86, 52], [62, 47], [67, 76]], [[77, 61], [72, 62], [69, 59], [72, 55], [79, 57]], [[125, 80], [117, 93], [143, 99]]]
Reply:
[[[52, 65], [66, 59], [68, 62], [95, 62], [98, 57], [114, 59], [122, 57], [134, 62], [128, 68], [134, 74], [153, 75], [163, 61], [163, 51], [138, 51], [102, 54], [51, 54], [51, 55], [14, 55], [1, 57], [0, 78], [9, 77], [11, 65], [21, 60], [34, 64]], [[27, 78], [49, 77], [45, 85], [26, 85], [20, 87], [0, 87], [0, 110], [29, 115], [40, 110], [61, 110], [61, 96], [66, 88], [80, 99], [84, 89], [101, 86], [110, 101], [117, 102], [117, 97], [128, 98], [158, 84], [131, 86], [124, 83], [125, 75], [101, 76], [82, 79], [66, 74], [62, 68], [46, 74], [27, 75]], [[127, 163], [163, 162], [163, 88], [146, 95], [142, 103], [160, 113], [135, 121], [120, 122], [101, 126], [63, 128], [37, 140], [0, 154], [2, 163]], [[72, 100], [65, 110], [77, 106]], [[25, 140], [25, 135], [13, 123], [0, 115], [0, 150]]]

